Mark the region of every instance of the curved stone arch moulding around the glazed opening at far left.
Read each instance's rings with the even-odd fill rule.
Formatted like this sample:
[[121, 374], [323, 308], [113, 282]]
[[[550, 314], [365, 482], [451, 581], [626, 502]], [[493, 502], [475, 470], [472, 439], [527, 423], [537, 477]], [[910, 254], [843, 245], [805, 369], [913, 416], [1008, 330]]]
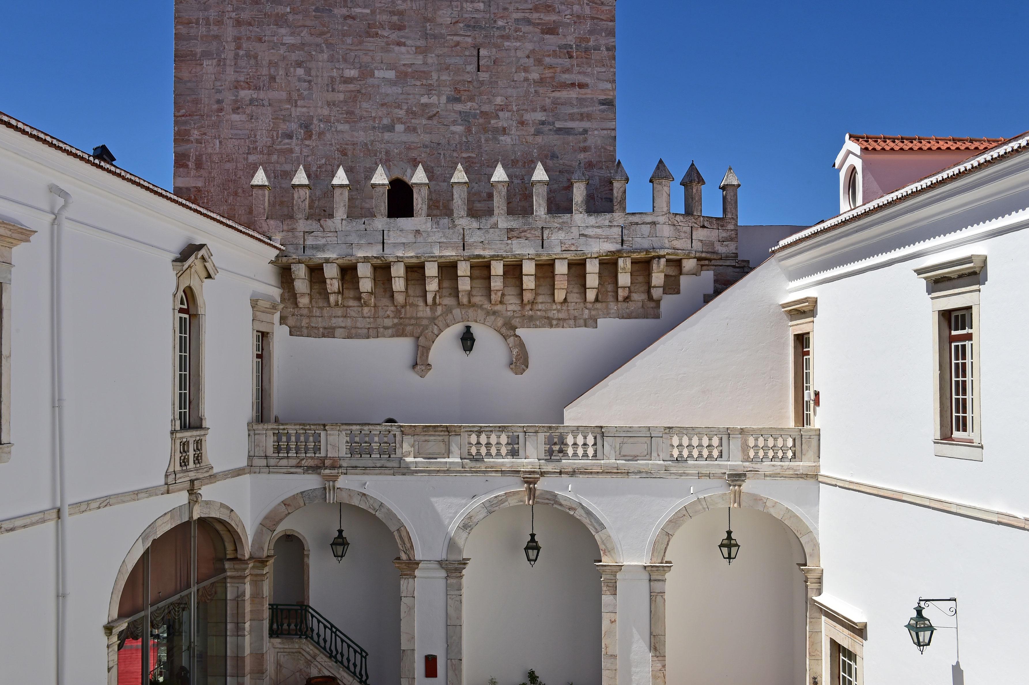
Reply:
[[[114, 579], [114, 587], [111, 589], [111, 602], [107, 609], [107, 620], [115, 621], [118, 618], [118, 603], [121, 600], [121, 590], [125, 589], [129, 574], [133, 567], [143, 555], [143, 552], [150, 543], [162, 535], [172, 530], [179, 524], [189, 520], [189, 507], [192, 503], [179, 505], [171, 511], [166, 511], [152, 524], [143, 530], [143, 533], [136, 538], [136, 542], [129, 549], [118, 575]], [[213, 500], [200, 500], [196, 503], [197, 517], [204, 518], [212, 524], [215, 530], [221, 535], [225, 543], [226, 558], [249, 558], [250, 546], [247, 542], [247, 529], [243, 520], [227, 504], [215, 502]]]

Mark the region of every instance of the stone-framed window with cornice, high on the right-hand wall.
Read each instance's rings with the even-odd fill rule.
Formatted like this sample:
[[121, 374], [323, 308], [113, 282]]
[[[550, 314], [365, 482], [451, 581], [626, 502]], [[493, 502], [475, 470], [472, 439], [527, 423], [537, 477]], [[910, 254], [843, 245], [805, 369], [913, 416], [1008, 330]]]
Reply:
[[981, 274], [986, 255], [922, 266], [928, 281], [933, 339], [933, 453], [983, 460]]

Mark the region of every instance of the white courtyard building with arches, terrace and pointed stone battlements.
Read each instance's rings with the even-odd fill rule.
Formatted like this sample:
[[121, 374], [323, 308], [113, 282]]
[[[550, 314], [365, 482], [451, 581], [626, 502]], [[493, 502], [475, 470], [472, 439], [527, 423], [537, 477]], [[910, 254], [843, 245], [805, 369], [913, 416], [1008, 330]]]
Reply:
[[1020, 681], [1029, 136], [848, 136], [811, 227], [0, 161], [0, 682]]

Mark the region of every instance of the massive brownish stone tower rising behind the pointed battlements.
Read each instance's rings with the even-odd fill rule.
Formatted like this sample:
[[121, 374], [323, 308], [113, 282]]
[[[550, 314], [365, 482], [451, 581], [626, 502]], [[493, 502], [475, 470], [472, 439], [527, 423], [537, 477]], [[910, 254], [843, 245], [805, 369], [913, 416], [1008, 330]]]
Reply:
[[175, 2], [175, 192], [250, 225], [258, 165], [270, 214], [292, 212], [303, 165], [312, 219], [332, 216], [343, 166], [350, 215], [371, 216], [382, 164], [410, 183], [421, 164], [429, 215], [490, 215], [503, 164], [511, 214], [532, 212], [537, 160], [556, 213], [571, 212], [582, 160], [590, 212], [610, 212], [615, 163], [615, 0]]

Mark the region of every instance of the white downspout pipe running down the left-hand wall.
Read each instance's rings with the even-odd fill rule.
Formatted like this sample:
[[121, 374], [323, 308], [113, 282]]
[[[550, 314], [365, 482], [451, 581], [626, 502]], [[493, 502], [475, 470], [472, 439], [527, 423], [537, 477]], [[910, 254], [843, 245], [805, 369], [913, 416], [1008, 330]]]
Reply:
[[64, 375], [61, 329], [61, 235], [64, 217], [71, 207], [71, 195], [57, 184], [49, 190], [64, 201], [54, 215], [50, 237], [50, 382], [54, 398], [54, 457], [57, 462], [58, 489], [58, 685], [65, 685], [68, 670], [68, 491], [65, 486], [64, 459]]

